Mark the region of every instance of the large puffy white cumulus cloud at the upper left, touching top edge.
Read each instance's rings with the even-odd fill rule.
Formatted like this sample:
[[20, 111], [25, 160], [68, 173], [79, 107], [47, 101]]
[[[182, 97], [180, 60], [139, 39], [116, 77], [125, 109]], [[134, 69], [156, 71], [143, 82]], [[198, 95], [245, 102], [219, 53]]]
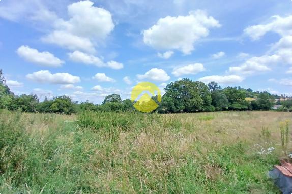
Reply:
[[94, 52], [93, 42], [103, 41], [113, 30], [111, 13], [93, 6], [91, 1], [79, 1], [68, 6], [69, 19], [58, 19], [54, 31], [42, 38], [71, 50]]

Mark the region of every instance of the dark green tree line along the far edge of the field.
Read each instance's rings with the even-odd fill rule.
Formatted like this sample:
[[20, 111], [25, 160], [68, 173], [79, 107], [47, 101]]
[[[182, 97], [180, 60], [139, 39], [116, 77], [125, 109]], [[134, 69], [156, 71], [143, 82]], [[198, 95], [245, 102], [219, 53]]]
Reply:
[[[158, 104], [155, 110], [159, 113], [204, 112], [222, 110], [270, 110], [278, 97], [267, 91], [256, 91], [238, 87], [222, 89], [218, 83], [192, 81], [184, 78], [169, 83], [165, 88], [161, 102], [157, 96], [152, 99]], [[290, 108], [292, 101], [286, 101]], [[135, 102], [134, 102], [135, 103]], [[15, 95], [5, 84], [5, 78], [0, 70], [0, 109], [20, 110], [23, 112], [64, 113], [73, 114], [84, 110], [91, 111], [136, 111], [130, 99], [122, 100], [120, 95], [106, 96], [102, 104], [89, 101], [74, 102], [68, 96], [45, 98], [40, 102], [35, 94]]]

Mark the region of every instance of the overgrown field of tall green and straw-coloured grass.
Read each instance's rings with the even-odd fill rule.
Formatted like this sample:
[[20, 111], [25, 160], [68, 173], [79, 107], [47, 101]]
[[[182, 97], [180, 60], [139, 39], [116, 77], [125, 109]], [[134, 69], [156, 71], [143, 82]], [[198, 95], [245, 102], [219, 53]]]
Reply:
[[280, 193], [267, 173], [291, 115], [1, 110], [0, 193]]

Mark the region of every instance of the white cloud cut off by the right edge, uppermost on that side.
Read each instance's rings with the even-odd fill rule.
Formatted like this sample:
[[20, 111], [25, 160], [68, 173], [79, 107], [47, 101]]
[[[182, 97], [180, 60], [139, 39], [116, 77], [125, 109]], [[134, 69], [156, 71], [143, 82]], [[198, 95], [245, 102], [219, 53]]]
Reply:
[[244, 33], [250, 36], [253, 40], [258, 40], [269, 31], [278, 33], [281, 36], [292, 34], [292, 15], [287, 17], [273, 16], [273, 21], [267, 24], [249, 26], [244, 30]]

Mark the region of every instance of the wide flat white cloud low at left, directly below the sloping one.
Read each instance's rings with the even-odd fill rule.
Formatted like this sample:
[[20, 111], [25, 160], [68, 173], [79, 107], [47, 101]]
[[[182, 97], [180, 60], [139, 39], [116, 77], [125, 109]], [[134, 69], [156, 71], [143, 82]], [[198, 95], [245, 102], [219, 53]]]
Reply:
[[49, 84], [74, 84], [80, 82], [80, 78], [78, 76], [73, 76], [69, 73], [51, 74], [48, 70], [40, 70], [32, 74], [27, 74], [26, 78], [38, 83]]

